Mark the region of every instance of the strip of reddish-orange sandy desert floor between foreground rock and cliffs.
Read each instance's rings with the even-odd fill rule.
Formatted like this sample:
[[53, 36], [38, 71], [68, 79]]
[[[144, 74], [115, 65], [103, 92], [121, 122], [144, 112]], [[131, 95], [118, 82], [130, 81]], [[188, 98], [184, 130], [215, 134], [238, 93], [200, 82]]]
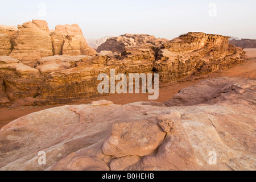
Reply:
[[[245, 77], [245, 78], [256, 78], [256, 48], [246, 48], [246, 59], [244, 63], [233, 66], [232, 68], [217, 71], [206, 76], [200, 77], [187, 77], [183, 80], [177, 82], [172, 82], [171, 84], [160, 85], [159, 88], [159, 98], [158, 102], [166, 102], [170, 100], [183, 88], [187, 88], [193, 84], [196, 84], [206, 78], [217, 78], [222, 76], [229, 77]], [[76, 104], [88, 104], [92, 101], [98, 100], [109, 100], [114, 102], [114, 104], [125, 105], [138, 101], [148, 101], [147, 94], [109, 94], [107, 96], [95, 96], [91, 98], [85, 98], [79, 102], [73, 102], [68, 105]], [[23, 106], [20, 104], [16, 107], [4, 107], [0, 109], [0, 129], [5, 126], [7, 123], [22, 117], [24, 115], [34, 113], [36, 111], [48, 109], [51, 107], [59, 107], [58, 105], [47, 105], [47, 106]]]

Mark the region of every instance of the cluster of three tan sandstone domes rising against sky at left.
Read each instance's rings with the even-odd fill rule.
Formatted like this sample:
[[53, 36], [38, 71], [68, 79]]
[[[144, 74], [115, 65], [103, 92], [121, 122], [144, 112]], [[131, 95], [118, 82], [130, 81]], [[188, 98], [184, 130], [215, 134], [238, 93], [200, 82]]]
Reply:
[[77, 24], [58, 25], [49, 31], [44, 20], [0, 26], [0, 56], [11, 56], [34, 68], [36, 61], [53, 55], [95, 55]]

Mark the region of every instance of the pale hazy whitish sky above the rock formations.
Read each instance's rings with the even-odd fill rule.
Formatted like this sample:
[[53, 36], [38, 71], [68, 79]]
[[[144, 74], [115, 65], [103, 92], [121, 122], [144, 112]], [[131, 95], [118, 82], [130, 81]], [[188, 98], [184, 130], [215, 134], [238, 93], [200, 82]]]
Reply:
[[0, 0], [0, 24], [77, 23], [86, 39], [125, 33], [171, 39], [189, 31], [256, 39], [255, 9], [255, 0]]

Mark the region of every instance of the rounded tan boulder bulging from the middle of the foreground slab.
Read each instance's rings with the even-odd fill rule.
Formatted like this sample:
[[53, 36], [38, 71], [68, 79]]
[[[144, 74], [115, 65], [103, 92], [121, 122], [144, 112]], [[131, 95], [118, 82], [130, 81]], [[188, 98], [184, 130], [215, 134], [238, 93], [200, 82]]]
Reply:
[[164, 137], [166, 133], [158, 125], [148, 121], [117, 123], [104, 142], [102, 152], [115, 158], [151, 155]]

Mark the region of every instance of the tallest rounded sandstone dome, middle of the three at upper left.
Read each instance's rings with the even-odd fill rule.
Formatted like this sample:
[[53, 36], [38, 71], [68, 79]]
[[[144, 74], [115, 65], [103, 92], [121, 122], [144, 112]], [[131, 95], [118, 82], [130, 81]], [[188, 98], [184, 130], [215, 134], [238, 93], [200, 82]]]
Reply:
[[47, 22], [32, 20], [18, 26], [18, 35], [14, 39], [10, 56], [22, 63], [33, 65], [36, 60], [52, 56], [52, 40]]

